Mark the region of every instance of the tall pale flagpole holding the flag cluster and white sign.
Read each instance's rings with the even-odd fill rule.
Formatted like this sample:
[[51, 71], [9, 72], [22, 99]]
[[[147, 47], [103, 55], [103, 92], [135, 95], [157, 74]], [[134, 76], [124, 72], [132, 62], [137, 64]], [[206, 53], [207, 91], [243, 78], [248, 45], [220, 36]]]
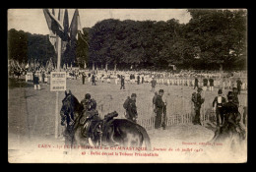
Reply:
[[[60, 9], [60, 19], [62, 21], [62, 9]], [[61, 39], [56, 35], [57, 39], [57, 72], [60, 72], [60, 59], [61, 59]], [[59, 129], [59, 91], [56, 91], [56, 108], [55, 108], [55, 139], [58, 138], [58, 129]]]

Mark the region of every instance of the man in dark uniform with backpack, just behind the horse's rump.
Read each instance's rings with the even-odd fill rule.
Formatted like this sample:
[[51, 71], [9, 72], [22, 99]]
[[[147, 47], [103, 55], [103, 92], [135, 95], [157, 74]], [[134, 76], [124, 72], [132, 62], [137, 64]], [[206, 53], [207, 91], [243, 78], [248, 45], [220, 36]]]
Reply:
[[137, 107], [136, 107], [136, 93], [132, 93], [131, 98], [128, 97], [127, 99], [127, 106], [126, 106], [126, 118], [128, 120], [133, 121], [136, 123], [136, 120], [138, 118], [138, 113], [137, 113]]

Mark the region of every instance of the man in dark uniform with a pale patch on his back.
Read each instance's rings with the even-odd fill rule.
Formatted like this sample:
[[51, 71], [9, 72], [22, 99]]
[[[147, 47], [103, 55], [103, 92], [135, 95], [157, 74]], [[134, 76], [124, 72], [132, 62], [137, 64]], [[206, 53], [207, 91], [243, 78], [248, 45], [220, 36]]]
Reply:
[[217, 127], [220, 127], [220, 116], [221, 116], [221, 124], [224, 124], [224, 113], [222, 111], [222, 108], [225, 103], [225, 98], [222, 96], [223, 90], [218, 90], [218, 96], [215, 97], [213, 101], [213, 108], [214, 111], [216, 111], [216, 119], [217, 119]]

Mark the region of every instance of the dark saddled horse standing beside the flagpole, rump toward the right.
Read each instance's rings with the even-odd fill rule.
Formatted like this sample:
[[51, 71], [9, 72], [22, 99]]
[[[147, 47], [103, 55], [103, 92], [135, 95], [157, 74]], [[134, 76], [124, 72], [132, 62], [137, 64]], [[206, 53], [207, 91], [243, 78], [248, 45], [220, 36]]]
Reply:
[[[65, 143], [90, 143], [93, 145], [101, 144], [107, 146], [136, 146], [141, 147], [145, 143], [147, 149], [151, 149], [151, 141], [147, 131], [132, 121], [127, 119], [113, 119], [118, 114], [114, 111], [105, 115], [105, 119], [99, 116], [88, 117], [83, 121], [83, 106], [69, 90], [65, 91], [60, 110], [61, 125], [66, 123]], [[92, 125], [88, 125], [91, 122]], [[90, 127], [91, 137], [85, 137], [83, 131]]]

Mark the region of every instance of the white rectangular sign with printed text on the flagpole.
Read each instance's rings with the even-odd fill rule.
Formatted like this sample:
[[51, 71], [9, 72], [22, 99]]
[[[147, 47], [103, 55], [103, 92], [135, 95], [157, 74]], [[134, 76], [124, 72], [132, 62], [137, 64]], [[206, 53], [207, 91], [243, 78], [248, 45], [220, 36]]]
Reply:
[[66, 90], [66, 72], [50, 73], [50, 91]]

